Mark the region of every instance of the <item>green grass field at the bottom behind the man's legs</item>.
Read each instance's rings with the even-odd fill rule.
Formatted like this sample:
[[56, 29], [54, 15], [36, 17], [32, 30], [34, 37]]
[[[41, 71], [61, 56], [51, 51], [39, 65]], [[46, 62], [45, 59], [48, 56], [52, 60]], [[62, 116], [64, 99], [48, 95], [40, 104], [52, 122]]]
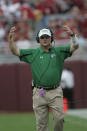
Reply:
[[[0, 131], [36, 131], [35, 116], [33, 113], [0, 114]], [[53, 131], [51, 114], [50, 131]], [[65, 115], [64, 131], [87, 131], [87, 119]]]

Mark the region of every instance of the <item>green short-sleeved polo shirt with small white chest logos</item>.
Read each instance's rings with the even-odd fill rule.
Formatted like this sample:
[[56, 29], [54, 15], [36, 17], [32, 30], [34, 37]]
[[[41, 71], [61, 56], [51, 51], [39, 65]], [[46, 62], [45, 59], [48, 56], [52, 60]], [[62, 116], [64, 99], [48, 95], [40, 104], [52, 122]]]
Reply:
[[20, 49], [20, 60], [30, 64], [34, 84], [39, 86], [59, 85], [64, 60], [71, 56], [70, 45], [52, 47], [45, 52], [37, 49]]

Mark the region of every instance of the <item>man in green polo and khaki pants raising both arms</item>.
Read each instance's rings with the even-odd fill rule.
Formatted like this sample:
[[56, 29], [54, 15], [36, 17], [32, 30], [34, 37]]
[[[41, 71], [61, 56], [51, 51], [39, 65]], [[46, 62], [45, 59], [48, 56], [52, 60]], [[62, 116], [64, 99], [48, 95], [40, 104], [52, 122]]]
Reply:
[[34, 83], [33, 109], [36, 116], [38, 131], [49, 131], [49, 108], [53, 112], [54, 131], [63, 131], [63, 93], [60, 87], [61, 73], [64, 60], [71, 56], [78, 48], [75, 34], [68, 26], [64, 30], [71, 36], [72, 44], [68, 46], [52, 47], [54, 41], [50, 29], [42, 29], [36, 40], [40, 43], [37, 49], [18, 49], [14, 44], [12, 27], [9, 33], [9, 46], [14, 55], [21, 61], [30, 64]]

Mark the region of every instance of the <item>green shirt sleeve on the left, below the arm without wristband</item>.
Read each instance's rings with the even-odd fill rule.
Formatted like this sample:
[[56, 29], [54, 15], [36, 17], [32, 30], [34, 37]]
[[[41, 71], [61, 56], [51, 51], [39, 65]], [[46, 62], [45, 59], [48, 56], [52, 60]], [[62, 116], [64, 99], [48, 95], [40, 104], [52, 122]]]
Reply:
[[20, 49], [20, 61], [31, 63], [33, 59], [34, 49]]

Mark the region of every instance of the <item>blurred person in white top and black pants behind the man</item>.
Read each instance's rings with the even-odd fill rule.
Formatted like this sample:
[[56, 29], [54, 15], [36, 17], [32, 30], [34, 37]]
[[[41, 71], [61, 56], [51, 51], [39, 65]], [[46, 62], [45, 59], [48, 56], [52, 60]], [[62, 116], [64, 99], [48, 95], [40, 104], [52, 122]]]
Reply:
[[63, 89], [64, 98], [67, 98], [69, 102], [69, 108], [74, 108], [74, 74], [68, 67], [62, 72], [61, 87]]

